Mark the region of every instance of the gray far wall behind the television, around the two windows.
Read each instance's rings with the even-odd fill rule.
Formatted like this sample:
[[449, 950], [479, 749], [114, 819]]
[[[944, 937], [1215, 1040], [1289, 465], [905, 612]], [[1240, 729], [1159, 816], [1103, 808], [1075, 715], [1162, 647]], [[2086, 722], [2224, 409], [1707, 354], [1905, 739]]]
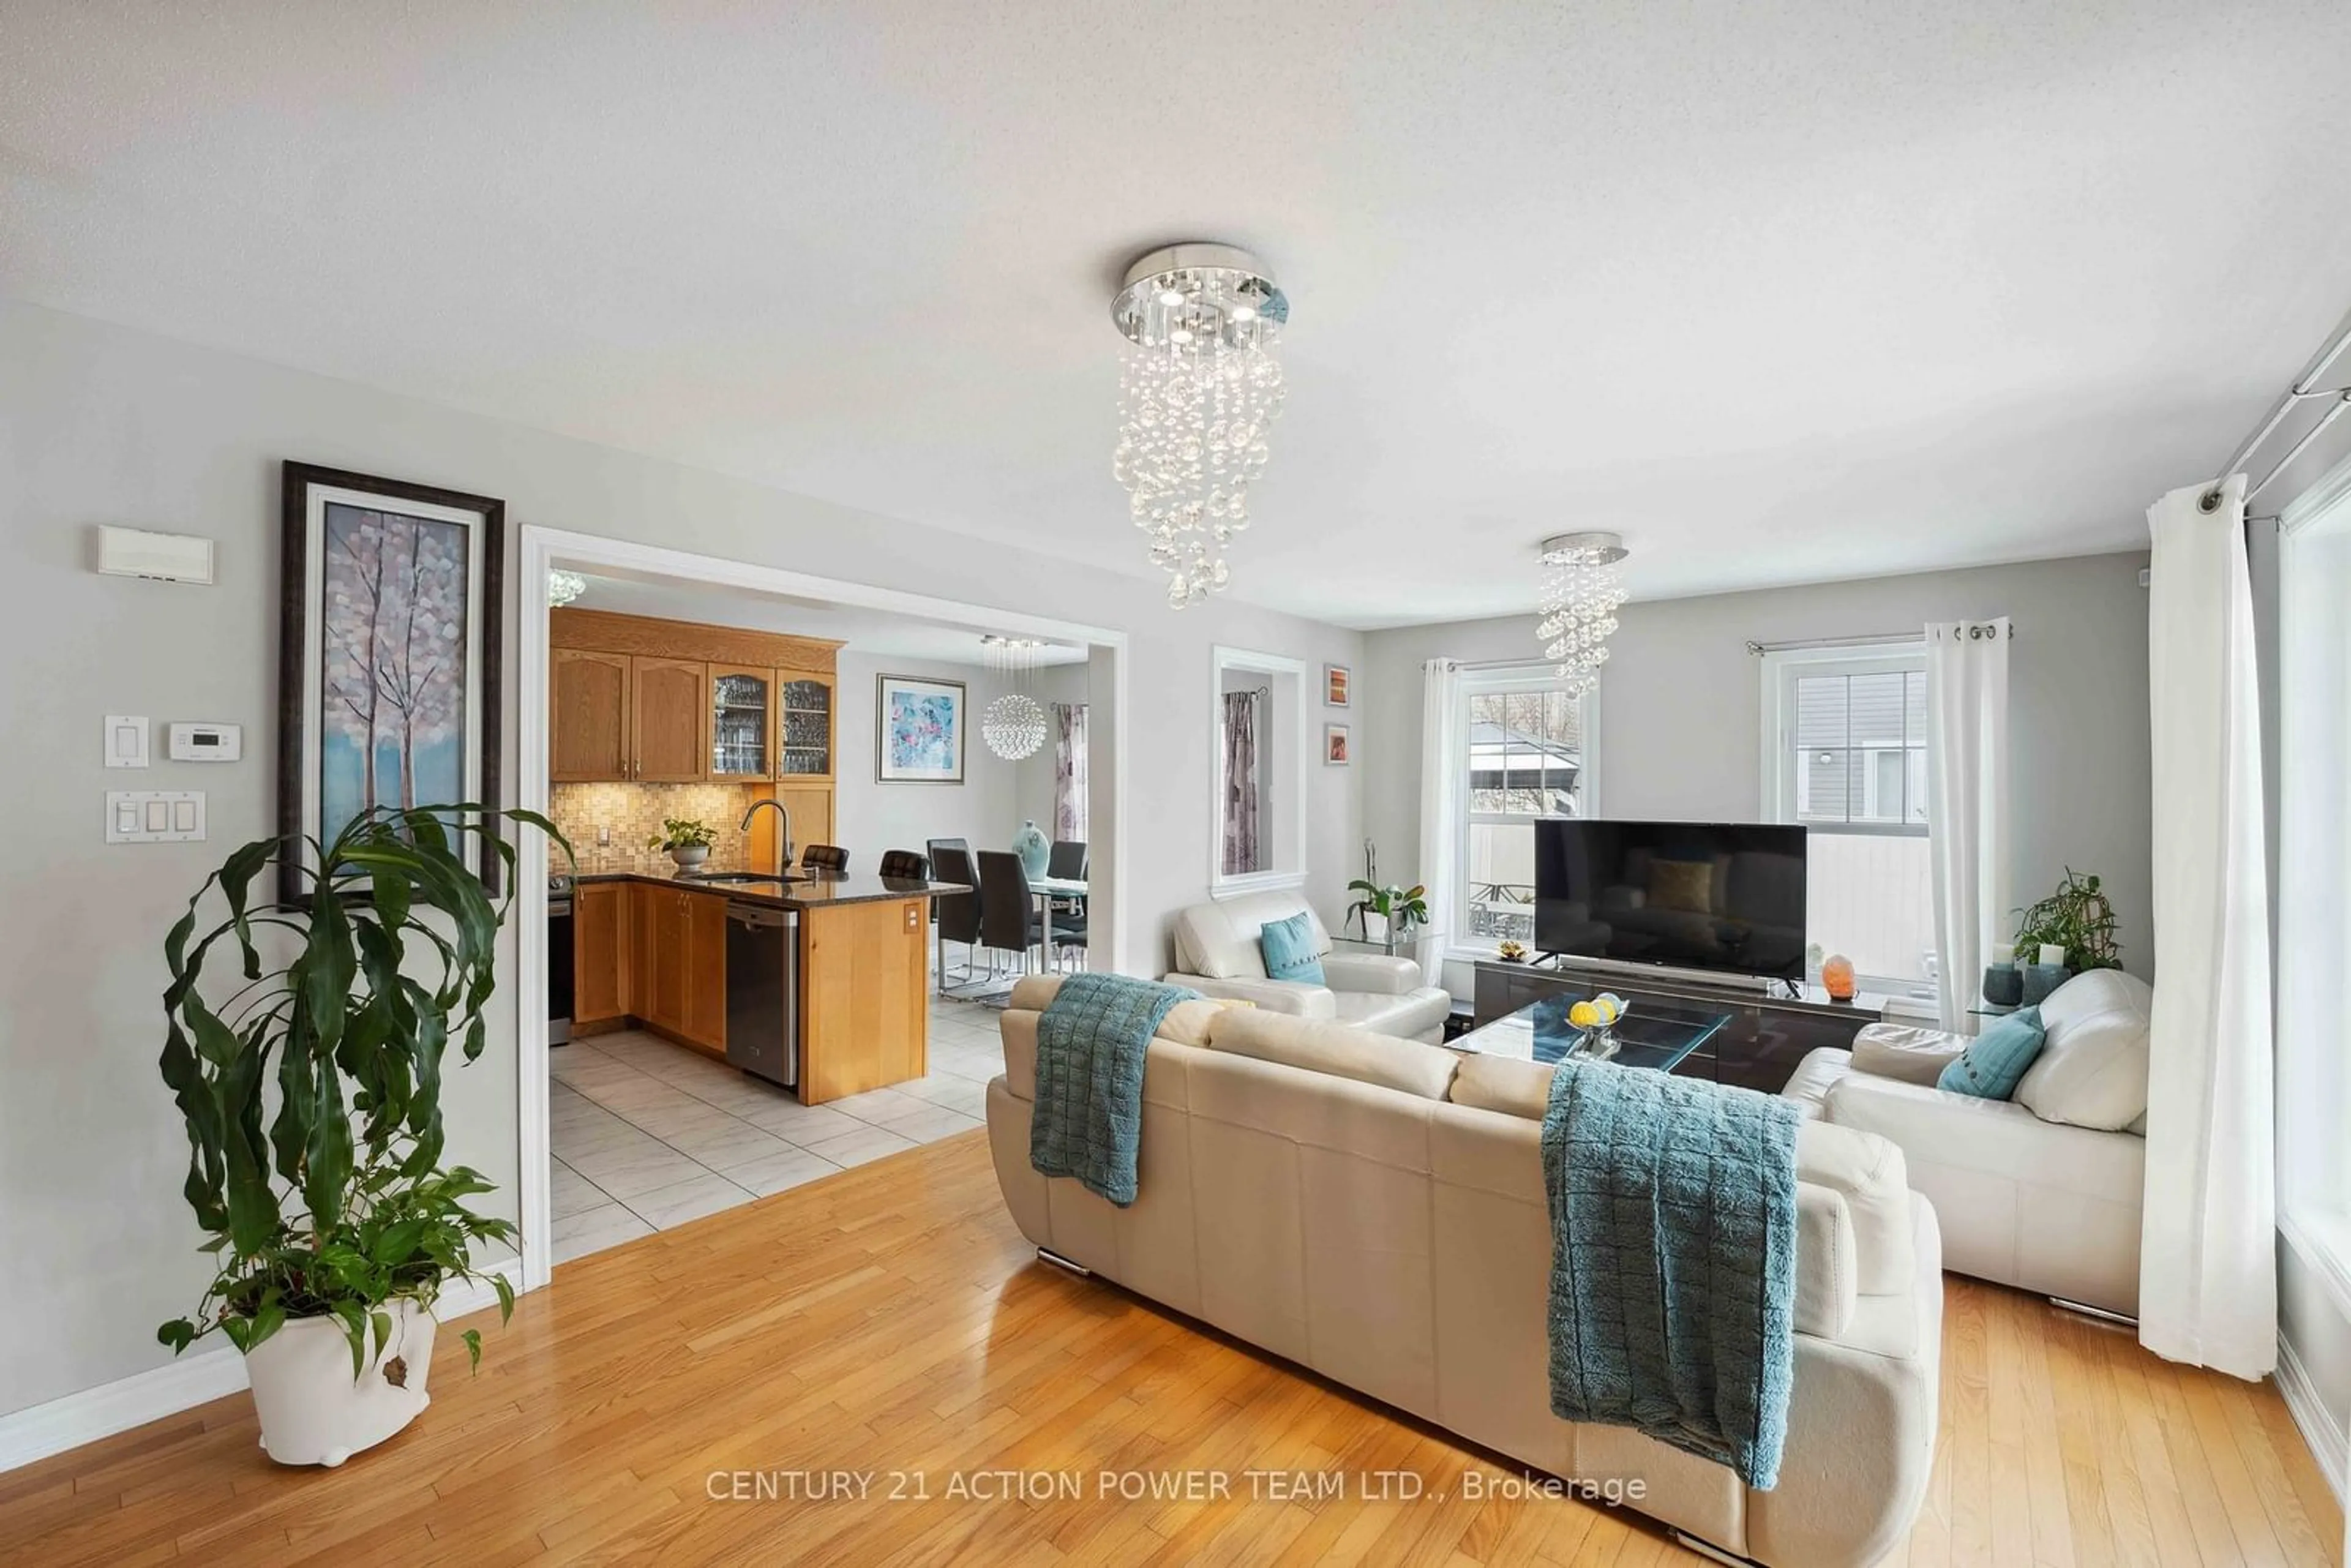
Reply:
[[[2099, 872], [2123, 961], [2154, 961], [2144, 552], [1627, 604], [1601, 679], [1606, 816], [1751, 820], [1763, 809], [1763, 677], [1747, 642], [1864, 637], [2010, 616], [2010, 811], [2020, 903], [2067, 865]], [[1364, 830], [1401, 877], [1420, 851], [1420, 665], [1533, 658], [1533, 616], [1364, 637]]]

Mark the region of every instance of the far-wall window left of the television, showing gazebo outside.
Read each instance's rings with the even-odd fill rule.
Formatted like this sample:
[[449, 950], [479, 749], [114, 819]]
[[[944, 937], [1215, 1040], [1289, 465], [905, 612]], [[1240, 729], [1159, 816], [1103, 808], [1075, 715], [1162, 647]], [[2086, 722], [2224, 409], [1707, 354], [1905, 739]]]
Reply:
[[1535, 940], [1535, 820], [1589, 816], [1592, 701], [1559, 689], [1549, 668], [1462, 677], [1460, 910], [1465, 945]]

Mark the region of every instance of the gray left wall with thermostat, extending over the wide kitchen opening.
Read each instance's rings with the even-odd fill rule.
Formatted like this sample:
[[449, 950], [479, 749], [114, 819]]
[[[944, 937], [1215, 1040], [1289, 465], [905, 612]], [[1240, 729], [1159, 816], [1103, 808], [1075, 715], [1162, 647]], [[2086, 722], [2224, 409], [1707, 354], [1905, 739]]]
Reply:
[[[1131, 534], [1107, 423], [1103, 442], [1100, 515], [1063, 522]], [[155, 1324], [205, 1281], [179, 1197], [186, 1140], [155, 1074], [160, 950], [202, 877], [275, 823], [282, 458], [503, 496], [510, 550], [522, 524], [548, 524], [1126, 630], [1147, 715], [1131, 726], [1124, 867], [1143, 961], [1164, 957], [1166, 914], [1208, 884], [1211, 644], [1310, 663], [1361, 649], [1354, 632], [1239, 602], [1173, 614], [1147, 576], [0, 303], [0, 729], [16, 752], [0, 839], [0, 1312], [21, 1326], [0, 1342], [0, 1413], [169, 1361]], [[94, 576], [99, 522], [219, 541], [219, 585]], [[515, 679], [510, 654], [508, 691]], [[242, 722], [245, 762], [106, 771], [108, 712]], [[1354, 863], [1361, 776], [1310, 780], [1310, 891], [1328, 917]], [[207, 790], [209, 842], [106, 846], [108, 788]], [[487, 1056], [449, 1081], [449, 1157], [510, 1192], [517, 1001], [494, 1006]], [[508, 1192], [489, 1206], [510, 1213]]]

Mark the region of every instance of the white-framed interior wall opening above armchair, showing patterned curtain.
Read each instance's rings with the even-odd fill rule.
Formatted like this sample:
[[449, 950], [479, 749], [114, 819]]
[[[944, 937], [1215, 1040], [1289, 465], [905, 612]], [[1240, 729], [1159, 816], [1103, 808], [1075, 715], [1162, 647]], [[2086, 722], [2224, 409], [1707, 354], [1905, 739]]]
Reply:
[[1211, 893], [1305, 884], [1310, 691], [1302, 661], [1215, 649]]

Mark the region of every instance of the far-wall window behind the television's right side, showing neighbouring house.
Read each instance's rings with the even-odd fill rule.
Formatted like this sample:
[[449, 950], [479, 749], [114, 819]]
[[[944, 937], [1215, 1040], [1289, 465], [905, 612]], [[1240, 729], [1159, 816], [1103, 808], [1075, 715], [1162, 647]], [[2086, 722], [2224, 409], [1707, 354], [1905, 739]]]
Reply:
[[1763, 802], [1810, 830], [1806, 940], [1871, 990], [1935, 987], [1925, 646], [1763, 658]]

